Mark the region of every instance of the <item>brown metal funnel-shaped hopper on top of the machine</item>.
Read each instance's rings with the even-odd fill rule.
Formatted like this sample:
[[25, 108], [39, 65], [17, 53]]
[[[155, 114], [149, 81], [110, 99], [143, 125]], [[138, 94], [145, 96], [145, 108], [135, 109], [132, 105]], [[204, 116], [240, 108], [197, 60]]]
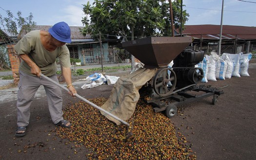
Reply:
[[193, 41], [192, 37], [147, 37], [123, 42], [122, 46], [145, 66], [167, 67]]

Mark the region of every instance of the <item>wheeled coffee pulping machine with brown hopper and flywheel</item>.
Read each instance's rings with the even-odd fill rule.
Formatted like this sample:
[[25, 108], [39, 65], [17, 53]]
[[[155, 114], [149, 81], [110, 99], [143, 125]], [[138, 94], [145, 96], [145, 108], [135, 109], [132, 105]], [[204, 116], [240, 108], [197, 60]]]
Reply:
[[[192, 37], [147, 37], [123, 42], [122, 46], [143, 63], [146, 69], [157, 69], [154, 77], [140, 89], [147, 103], [154, 106], [155, 112], [165, 111], [168, 118], [177, 113], [177, 106], [213, 96], [212, 104], [217, 103], [216, 88], [197, 85], [204, 72], [196, 68], [204, 58], [203, 51], [188, 50]], [[173, 61], [173, 66], [168, 64]], [[202, 91], [203, 94], [190, 94]], [[143, 92], [143, 93], [142, 93]]]

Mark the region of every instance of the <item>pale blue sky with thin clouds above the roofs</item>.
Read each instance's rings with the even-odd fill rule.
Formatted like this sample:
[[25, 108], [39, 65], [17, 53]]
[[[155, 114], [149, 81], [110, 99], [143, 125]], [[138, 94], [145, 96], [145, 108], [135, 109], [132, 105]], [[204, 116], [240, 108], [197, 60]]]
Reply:
[[[22, 17], [33, 14], [37, 25], [54, 25], [65, 21], [69, 26], [83, 26], [82, 4], [94, 0], [1, 0], [0, 15], [7, 17], [10, 10], [15, 17], [21, 11]], [[255, 26], [256, 0], [223, 0], [223, 25]], [[190, 15], [185, 25], [216, 24], [221, 22], [222, 0], [183, 0], [183, 10]], [[1, 26], [2, 27], [2, 26]]]

